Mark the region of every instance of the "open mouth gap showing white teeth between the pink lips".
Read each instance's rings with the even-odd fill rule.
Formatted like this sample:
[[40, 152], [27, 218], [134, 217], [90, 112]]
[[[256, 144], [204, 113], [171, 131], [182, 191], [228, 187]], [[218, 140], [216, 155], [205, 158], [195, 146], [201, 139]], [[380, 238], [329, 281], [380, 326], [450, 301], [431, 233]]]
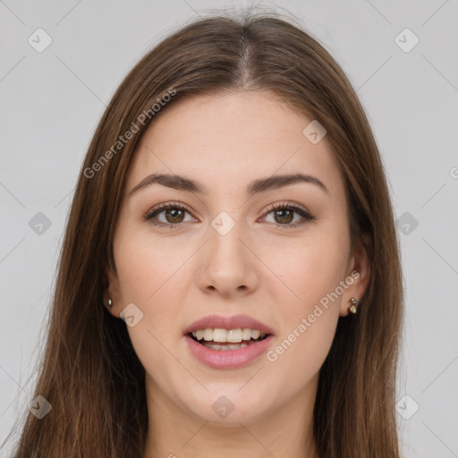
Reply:
[[194, 342], [210, 349], [221, 352], [241, 350], [252, 344], [257, 344], [271, 334], [261, 333], [258, 329], [250, 328], [206, 328], [198, 329], [187, 334]]

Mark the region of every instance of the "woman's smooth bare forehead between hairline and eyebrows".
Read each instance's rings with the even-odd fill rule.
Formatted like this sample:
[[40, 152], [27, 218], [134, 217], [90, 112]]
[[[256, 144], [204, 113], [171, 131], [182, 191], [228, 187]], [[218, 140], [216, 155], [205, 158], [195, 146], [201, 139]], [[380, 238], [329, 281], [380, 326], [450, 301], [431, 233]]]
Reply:
[[333, 193], [344, 182], [326, 136], [303, 134], [313, 121], [270, 92], [184, 98], [153, 120], [133, 157], [127, 186], [152, 172], [183, 174], [212, 191], [272, 174], [313, 174]]

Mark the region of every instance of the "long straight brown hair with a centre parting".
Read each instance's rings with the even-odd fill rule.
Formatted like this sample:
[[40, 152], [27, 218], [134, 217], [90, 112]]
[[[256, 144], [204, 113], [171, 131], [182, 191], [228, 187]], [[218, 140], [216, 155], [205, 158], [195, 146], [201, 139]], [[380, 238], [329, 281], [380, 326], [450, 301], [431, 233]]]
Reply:
[[42, 420], [25, 412], [15, 458], [143, 455], [145, 371], [123, 320], [103, 305], [106, 266], [115, 271], [114, 225], [148, 123], [184, 97], [224, 90], [270, 90], [327, 129], [344, 174], [352, 247], [369, 237], [371, 276], [358, 315], [339, 319], [320, 370], [315, 439], [326, 458], [399, 457], [394, 382], [403, 280], [376, 141], [350, 81], [318, 40], [293, 19], [249, 11], [175, 30], [141, 58], [106, 108], [72, 199], [33, 396], [52, 410]]

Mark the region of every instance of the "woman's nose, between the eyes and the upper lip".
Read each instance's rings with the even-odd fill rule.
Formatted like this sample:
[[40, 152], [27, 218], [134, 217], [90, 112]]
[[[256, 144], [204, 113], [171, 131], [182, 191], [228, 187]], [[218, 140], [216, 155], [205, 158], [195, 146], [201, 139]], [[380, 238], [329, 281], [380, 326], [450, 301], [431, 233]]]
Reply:
[[242, 297], [258, 288], [259, 259], [242, 223], [236, 222], [228, 233], [223, 233], [208, 226], [209, 240], [200, 252], [199, 288], [224, 298]]

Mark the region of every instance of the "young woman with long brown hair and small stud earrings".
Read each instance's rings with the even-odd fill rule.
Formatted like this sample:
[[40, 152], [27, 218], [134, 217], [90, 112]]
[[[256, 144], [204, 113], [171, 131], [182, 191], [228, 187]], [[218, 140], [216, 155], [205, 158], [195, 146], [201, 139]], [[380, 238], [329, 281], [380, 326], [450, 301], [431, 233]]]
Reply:
[[324, 47], [277, 15], [188, 24], [91, 141], [14, 456], [399, 457], [399, 258]]

